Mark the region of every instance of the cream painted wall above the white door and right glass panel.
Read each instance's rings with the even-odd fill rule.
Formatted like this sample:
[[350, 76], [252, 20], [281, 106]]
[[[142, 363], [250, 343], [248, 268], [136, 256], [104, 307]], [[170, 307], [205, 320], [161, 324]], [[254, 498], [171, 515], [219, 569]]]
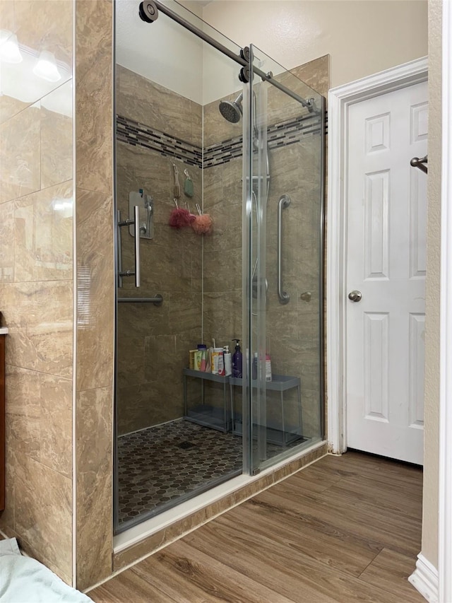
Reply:
[[203, 19], [287, 69], [331, 55], [331, 87], [427, 54], [427, 0], [213, 0]]

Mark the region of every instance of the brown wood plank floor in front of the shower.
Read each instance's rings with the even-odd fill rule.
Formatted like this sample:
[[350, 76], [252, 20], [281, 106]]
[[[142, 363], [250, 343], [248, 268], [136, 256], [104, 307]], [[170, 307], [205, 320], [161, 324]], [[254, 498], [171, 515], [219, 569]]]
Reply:
[[96, 603], [424, 603], [422, 471], [325, 457], [88, 595]]

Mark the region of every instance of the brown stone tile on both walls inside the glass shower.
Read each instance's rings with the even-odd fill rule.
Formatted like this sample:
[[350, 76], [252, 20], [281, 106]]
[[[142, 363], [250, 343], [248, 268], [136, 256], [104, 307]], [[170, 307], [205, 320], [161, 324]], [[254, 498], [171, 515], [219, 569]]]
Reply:
[[[323, 87], [326, 93], [328, 57], [298, 70], [301, 75], [309, 76], [311, 86]], [[290, 81], [287, 85], [290, 86]], [[141, 242], [143, 286], [138, 294], [162, 293], [165, 297], [161, 308], [119, 305], [119, 433], [126, 433], [182, 416], [179, 376], [186, 366], [188, 349], [201, 341], [201, 308], [206, 344], [215, 338], [217, 344], [233, 348], [232, 338], [242, 334], [242, 123], [231, 124], [223, 119], [218, 111], [219, 100], [200, 107], [121, 66], [117, 86], [117, 113], [121, 116], [117, 144], [118, 206], [124, 215], [128, 211], [129, 191], [141, 188], [156, 200], [156, 237]], [[237, 92], [230, 99], [235, 95]], [[304, 433], [316, 436], [320, 394], [319, 124], [306, 110], [300, 111], [299, 105], [287, 105], [283, 100], [282, 93], [270, 86], [267, 336], [273, 372], [302, 379]], [[174, 232], [167, 226], [172, 162], [179, 165], [183, 184], [182, 156], [190, 165], [200, 202], [199, 168], [203, 166], [204, 211], [214, 220], [213, 233], [203, 240], [202, 274], [201, 247], [196, 245], [193, 234]], [[275, 292], [276, 211], [278, 199], [284, 193], [292, 198], [290, 216], [285, 214], [287, 220], [283, 221], [284, 284], [291, 291], [287, 306], [280, 305]], [[122, 247], [123, 269], [126, 269], [133, 266], [130, 235], [123, 235]], [[121, 295], [137, 295], [133, 283], [127, 279]], [[167, 375], [163, 379], [162, 364]], [[189, 394], [196, 396], [196, 392], [196, 386], [191, 385]], [[206, 384], [206, 396], [209, 404], [222, 404], [222, 392], [215, 385]], [[293, 409], [294, 423], [297, 401], [290, 395], [286, 400], [286, 411]], [[269, 420], [277, 423], [279, 410], [271, 416], [272, 408], [279, 409], [276, 402], [269, 404]]]

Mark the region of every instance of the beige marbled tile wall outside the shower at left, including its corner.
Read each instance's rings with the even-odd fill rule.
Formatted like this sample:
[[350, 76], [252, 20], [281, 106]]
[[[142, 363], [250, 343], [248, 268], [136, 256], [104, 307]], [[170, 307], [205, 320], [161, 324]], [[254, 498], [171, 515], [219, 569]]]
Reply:
[[[74, 6], [75, 185], [73, 119], [68, 110], [72, 80], [67, 81], [67, 74], [56, 85], [47, 85], [45, 95], [30, 94], [26, 102], [6, 94], [0, 98], [0, 310], [10, 329], [7, 507], [0, 527], [66, 582], [74, 578], [84, 587], [112, 570], [112, 2], [0, 1], [2, 28], [38, 53], [44, 48], [54, 52], [68, 69]], [[73, 537], [78, 551], [74, 577]]]

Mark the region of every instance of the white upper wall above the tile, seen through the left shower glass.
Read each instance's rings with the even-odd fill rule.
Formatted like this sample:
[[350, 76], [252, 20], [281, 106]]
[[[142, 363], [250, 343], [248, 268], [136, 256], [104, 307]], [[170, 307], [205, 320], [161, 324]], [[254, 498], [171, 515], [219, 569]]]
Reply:
[[[202, 15], [205, 0], [179, 3], [191, 13], [173, 0], [164, 2], [239, 54], [239, 46], [191, 15]], [[202, 105], [242, 89], [238, 64], [163, 13], [155, 23], [144, 23], [138, 16], [138, 0], [116, 2], [116, 62]]]

